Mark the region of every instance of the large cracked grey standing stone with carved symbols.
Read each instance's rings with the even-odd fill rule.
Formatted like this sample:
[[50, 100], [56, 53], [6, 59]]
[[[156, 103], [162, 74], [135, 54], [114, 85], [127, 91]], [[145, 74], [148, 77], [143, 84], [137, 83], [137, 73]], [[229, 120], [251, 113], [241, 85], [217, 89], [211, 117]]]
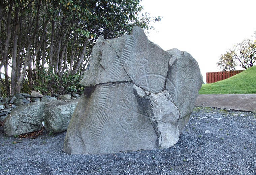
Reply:
[[187, 52], [162, 50], [134, 27], [95, 44], [81, 81], [85, 91], [64, 140], [68, 154], [169, 148], [179, 140], [202, 85]]

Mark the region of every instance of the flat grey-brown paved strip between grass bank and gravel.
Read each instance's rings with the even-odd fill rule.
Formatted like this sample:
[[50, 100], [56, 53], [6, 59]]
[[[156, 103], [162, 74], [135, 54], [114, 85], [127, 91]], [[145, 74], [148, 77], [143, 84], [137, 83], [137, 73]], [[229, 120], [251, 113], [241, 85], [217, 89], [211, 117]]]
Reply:
[[195, 106], [256, 112], [256, 94], [200, 94]]

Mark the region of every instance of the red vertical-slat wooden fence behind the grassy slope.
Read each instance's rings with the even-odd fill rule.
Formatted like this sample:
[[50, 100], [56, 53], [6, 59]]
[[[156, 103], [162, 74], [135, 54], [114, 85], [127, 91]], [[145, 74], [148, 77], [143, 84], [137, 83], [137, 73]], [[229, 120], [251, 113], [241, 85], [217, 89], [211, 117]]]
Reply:
[[243, 72], [244, 70], [233, 70], [233, 71], [221, 71], [221, 72], [206, 72], [206, 83], [213, 83], [223, 79], [227, 79], [234, 76], [237, 73]]

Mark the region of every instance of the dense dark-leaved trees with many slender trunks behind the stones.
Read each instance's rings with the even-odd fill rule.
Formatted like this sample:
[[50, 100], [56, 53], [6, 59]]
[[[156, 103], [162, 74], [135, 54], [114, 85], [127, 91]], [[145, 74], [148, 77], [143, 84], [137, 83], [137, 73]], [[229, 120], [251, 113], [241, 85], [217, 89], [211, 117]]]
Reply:
[[0, 69], [6, 77], [0, 81], [6, 95], [20, 93], [24, 82], [47, 94], [64, 91], [67, 80], [79, 81], [100, 35], [116, 38], [134, 25], [149, 30], [150, 21], [161, 20], [140, 14], [139, 2], [0, 0]]

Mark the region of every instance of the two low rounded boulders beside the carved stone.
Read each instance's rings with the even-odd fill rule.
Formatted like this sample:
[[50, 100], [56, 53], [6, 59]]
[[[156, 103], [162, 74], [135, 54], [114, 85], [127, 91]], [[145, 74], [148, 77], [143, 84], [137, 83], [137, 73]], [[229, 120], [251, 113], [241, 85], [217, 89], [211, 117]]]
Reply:
[[36, 132], [44, 126], [47, 132], [67, 130], [78, 100], [52, 100], [18, 106], [3, 121], [6, 135]]

